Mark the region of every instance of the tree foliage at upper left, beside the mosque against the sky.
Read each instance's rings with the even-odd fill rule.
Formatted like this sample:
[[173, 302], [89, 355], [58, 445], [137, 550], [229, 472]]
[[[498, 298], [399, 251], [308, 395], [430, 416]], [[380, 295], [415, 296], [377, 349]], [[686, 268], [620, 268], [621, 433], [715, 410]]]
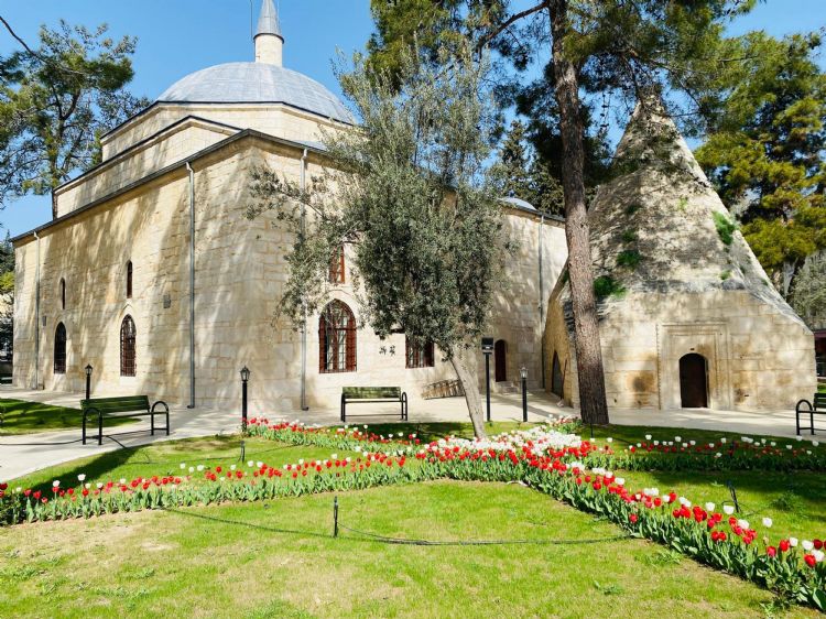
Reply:
[[48, 194], [100, 158], [99, 137], [149, 105], [124, 90], [135, 39], [113, 41], [61, 22], [40, 29], [40, 47], [0, 57], [0, 205]]

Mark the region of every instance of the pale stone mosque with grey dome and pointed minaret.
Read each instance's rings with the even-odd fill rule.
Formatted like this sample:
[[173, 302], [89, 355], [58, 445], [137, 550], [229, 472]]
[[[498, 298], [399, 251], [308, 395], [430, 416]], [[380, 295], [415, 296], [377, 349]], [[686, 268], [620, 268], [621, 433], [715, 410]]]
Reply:
[[[352, 123], [329, 90], [282, 65], [284, 42], [264, 0], [256, 62], [173, 84], [102, 137], [99, 165], [55, 189], [52, 221], [13, 239], [15, 385], [83, 391], [90, 365], [98, 395], [237, 408], [247, 366], [251, 410], [279, 414], [336, 406], [343, 385], [401, 385], [415, 399], [455, 379], [432, 346], [356, 328], [348, 251], [329, 273], [338, 325], [319, 315], [303, 333], [273, 324], [291, 239], [272, 214], [244, 217], [251, 170], [319, 175], [319, 131]], [[491, 317], [491, 380], [513, 389], [524, 366], [540, 388], [542, 307], [565, 263], [563, 222], [519, 200], [503, 209], [520, 250]]]

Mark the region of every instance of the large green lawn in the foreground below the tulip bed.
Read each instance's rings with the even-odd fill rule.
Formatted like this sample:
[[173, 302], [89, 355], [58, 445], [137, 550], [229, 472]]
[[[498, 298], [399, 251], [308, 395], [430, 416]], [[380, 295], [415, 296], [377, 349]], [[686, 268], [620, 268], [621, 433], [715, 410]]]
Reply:
[[[762, 617], [771, 594], [520, 485], [339, 493], [21, 525], [0, 535], [11, 617]], [[286, 532], [293, 531], [293, 532]], [[565, 542], [565, 543], [563, 543]], [[586, 543], [593, 542], [593, 543]], [[83, 544], [83, 547], [80, 546]], [[814, 617], [792, 608], [789, 617]]]

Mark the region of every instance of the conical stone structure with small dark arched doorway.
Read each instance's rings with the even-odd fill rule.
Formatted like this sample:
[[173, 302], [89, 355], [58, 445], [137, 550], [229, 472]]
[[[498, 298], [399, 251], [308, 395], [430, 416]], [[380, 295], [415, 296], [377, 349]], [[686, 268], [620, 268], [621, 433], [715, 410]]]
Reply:
[[[814, 338], [657, 104], [638, 105], [589, 211], [609, 406], [789, 409]], [[547, 388], [579, 394], [567, 274], [551, 294]]]

